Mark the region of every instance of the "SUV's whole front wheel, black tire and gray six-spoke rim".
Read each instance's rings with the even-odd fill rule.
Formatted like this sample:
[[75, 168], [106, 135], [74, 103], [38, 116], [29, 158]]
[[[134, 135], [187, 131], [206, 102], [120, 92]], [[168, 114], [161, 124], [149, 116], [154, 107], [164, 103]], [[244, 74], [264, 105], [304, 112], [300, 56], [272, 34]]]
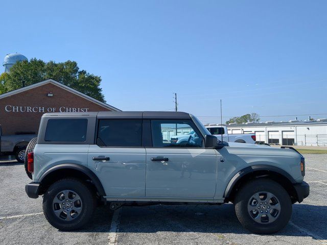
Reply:
[[292, 202], [287, 191], [275, 181], [257, 179], [238, 191], [235, 211], [240, 223], [249, 231], [271, 234], [289, 222]]

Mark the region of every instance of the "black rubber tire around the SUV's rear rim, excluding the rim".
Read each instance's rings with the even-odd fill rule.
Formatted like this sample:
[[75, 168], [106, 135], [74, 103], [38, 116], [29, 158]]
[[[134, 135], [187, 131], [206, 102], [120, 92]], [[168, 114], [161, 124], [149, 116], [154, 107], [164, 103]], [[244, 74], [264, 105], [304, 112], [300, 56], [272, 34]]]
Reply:
[[[57, 194], [64, 190], [75, 192], [77, 195], [79, 195], [82, 203], [78, 216], [72, 220], [60, 218], [55, 214], [55, 205], [53, 202], [57, 197]], [[63, 201], [65, 201], [65, 199], [66, 197]], [[67, 200], [69, 201], [69, 198]], [[61, 206], [60, 204], [59, 210], [61, 211], [61, 208], [64, 207], [65, 205]], [[62, 231], [72, 231], [82, 228], [92, 218], [95, 207], [96, 200], [92, 194], [91, 189], [87, 186], [87, 184], [84, 184], [78, 179], [62, 179], [55, 182], [48, 188], [48, 190], [46, 190], [43, 197], [43, 213], [45, 218], [53, 227]], [[73, 211], [73, 209], [69, 212]]]

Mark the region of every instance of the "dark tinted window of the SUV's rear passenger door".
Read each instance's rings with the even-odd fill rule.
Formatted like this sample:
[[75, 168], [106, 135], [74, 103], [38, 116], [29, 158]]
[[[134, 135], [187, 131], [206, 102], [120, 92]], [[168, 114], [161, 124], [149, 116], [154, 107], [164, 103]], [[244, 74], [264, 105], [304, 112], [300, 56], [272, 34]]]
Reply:
[[141, 146], [142, 120], [102, 119], [99, 120], [99, 146]]

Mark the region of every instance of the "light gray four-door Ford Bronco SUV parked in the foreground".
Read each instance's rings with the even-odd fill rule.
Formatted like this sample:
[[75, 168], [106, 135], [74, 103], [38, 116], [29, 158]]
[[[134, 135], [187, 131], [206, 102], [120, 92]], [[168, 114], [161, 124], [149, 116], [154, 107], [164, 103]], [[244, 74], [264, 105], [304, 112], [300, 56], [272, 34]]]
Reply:
[[86, 225], [101, 202], [231, 202], [245, 228], [273, 233], [309, 195], [305, 159], [294, 149], [220, 142], [184, 112], [46, 113], [28, 149], [26, 192], [43, 195], [44, 215], [59, 230]]

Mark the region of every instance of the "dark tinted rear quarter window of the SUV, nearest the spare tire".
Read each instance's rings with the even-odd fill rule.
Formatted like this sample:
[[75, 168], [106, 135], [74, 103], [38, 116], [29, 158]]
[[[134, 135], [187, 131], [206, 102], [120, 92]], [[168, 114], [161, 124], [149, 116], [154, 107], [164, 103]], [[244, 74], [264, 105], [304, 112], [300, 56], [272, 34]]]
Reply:
[[45, 141], [84, 142], [87, 119], [49, 119], [46, 125]]

